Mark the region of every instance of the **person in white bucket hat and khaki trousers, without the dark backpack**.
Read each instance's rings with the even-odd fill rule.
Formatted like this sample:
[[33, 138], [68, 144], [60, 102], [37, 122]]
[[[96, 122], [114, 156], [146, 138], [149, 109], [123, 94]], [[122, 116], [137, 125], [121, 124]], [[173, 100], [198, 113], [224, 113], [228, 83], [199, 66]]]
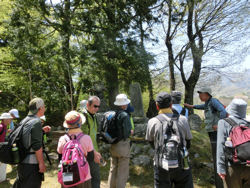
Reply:
[[125, 111], [130, 100], [127, 95], [119, 94], [116, 96], [114, 105], [118, 107], [116, 126], [118, 127], [117, 143], [111, 144], [111, 163], [108, 178], [109, 188], [125, 188], [129, 176], [129, 157], [131, 122], [129, 114]]

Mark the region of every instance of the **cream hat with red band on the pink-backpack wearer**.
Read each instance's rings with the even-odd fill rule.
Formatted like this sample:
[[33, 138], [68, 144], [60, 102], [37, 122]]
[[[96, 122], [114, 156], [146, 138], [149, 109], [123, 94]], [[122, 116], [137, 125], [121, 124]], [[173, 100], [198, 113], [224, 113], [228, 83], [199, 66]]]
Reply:
[[65, 115], [63, 126], [65, 128], [76, 128], [77, 126], [80, 128], [85, 121], [86, 118], [84, 115], [78, 113], [77, 111], [70, 111]]

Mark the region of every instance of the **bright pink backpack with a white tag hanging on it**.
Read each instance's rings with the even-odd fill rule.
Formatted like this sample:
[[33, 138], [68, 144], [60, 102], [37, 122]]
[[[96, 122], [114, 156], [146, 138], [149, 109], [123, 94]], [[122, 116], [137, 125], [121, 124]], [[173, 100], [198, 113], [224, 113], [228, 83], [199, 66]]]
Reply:
[[85, 182], [89, 171], [88, 162], [84, 156], [79, 140], [83, 133], [69, 136], [63, 147], [61, 169], [58, 172], [58, 182], [64, 187], [73, 187]]

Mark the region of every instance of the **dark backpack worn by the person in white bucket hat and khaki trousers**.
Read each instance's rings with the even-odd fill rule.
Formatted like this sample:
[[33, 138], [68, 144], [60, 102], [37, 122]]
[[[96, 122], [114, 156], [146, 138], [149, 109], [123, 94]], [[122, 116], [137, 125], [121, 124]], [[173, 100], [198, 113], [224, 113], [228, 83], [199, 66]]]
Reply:
[[123, 111], [108, 111], [104, 113], [98, 133], [101, 141], [107, 144], [115, 144], [122, 140], [123, 130], [116, 123], [117, 117], [121, 112]]

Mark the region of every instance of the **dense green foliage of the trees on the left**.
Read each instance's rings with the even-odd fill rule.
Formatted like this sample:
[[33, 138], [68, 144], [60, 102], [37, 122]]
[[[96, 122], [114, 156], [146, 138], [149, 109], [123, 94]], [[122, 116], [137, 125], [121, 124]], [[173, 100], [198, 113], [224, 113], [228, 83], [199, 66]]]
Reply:
[[135, 21], [152, 20], [155, 1], [1, 3], [1, 42], [7, 41], [0, 46], [2, 109], [27, 112], [28, 101], [39, 96], [48, 116], [62, 117], [82, 96], [95, 94], [96, 83], [104, 84], [111, 104], [132, 82], [146, 89], [155, 62], [137, 40]]

